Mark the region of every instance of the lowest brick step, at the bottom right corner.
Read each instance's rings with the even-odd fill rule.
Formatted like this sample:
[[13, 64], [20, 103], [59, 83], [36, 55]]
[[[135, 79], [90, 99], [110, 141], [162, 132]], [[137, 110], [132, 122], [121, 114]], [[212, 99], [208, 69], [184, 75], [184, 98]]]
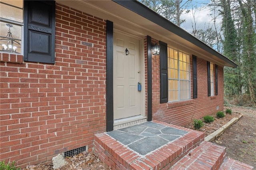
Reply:
[[225, 158], [219, 170], [253, 170], [253, 166], [232, 158]]

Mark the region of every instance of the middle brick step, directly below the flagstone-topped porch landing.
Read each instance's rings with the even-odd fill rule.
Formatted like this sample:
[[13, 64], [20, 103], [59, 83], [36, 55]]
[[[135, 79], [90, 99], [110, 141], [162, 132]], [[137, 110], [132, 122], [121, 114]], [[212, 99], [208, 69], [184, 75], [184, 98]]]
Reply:
[[174, 164], [170, 170], [218, 170], [225, 156], [225, 147], [204, 141]]

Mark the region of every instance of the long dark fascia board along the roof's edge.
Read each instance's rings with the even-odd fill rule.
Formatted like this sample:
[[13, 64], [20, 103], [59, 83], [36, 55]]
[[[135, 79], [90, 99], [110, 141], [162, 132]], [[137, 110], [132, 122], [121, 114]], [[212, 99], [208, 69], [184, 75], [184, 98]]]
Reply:
[[136, 14], [150, 20], [151, 22], [154, 22], [155, 24], [161, 26], [162, 28], [165, 28], [166, 30], [176, 34], [177, 36], [183, 38], [184, 40], [187, 40], [198, 47], [204, 49], [208, 53], [211, 53], [212, 55], [215, 55], [216, 57], [222, 59], [226, 63], [229, 63], [233, 67], [237, 67], [236, 63], [222, 55], [221, 53], [215, 51], [205, 43], [201, 42], [182, 28], [176, 26], [166, 18], [160, 16], [158, 13], [154, 12], [144, 4], [136, 1], [136, 0], [112, 0], [116, 2], [117, 4], [124, 6], [125, 8], [135, 12]]

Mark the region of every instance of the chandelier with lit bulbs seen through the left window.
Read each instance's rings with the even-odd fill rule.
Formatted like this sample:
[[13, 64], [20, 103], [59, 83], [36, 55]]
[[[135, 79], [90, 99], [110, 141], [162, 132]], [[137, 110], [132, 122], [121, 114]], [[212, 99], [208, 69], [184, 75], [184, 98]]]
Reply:
[[13, 25], [12, 24], [6, 24], [6, 26], [9, 27], [9, 30], [7, 32], [7, 36], [6, 37], [1, 36], [1, 39], [0, 39], [1, 42], [6, 42], [6, 43], [2, 44], [2, 49], [0, 51], [9, 52], [9, 53], [18, 53], [18, 52], [16, 52], [17, 46], [15, 46], [15, 45], [16, 44], [20, 45], [20, 43], [16, 41], [16, 40], [19, 40], [19, 39], [13, 38], [12, 37], [12, 32], [10, 30], [10, 28], [12, 28]]

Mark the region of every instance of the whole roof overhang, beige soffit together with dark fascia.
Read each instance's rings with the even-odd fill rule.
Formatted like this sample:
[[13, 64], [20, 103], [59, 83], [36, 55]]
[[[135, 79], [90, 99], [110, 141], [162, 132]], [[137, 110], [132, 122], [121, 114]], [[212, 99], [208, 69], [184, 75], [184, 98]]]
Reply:
[[130, 0], [56, 1], [92, 16], [110, 20], [114, 23], [114, 28], [124, 32], [140, 37], [151, 36], [156, 40], [168, 43], [173, 48], [188, 54], [194, 54], [220, 66], [237, 66], [221, 53], [218, 53], [140, 2]]

